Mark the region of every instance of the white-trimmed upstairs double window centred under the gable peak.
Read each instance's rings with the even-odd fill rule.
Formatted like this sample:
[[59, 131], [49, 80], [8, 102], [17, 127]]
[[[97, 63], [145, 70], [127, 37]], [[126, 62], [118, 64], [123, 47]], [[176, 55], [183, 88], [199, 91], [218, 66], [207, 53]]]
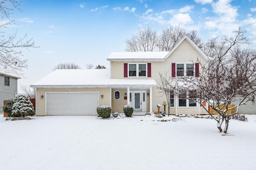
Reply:
[[176, 75], [179, 76], [194, 76], [194, 64], [183, 64], [178, 63], [176, 64]]

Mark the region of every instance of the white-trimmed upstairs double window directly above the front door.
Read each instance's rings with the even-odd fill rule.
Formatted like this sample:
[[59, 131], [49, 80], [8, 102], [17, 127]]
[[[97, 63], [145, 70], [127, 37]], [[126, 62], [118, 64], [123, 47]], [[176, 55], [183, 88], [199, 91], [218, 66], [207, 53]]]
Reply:
[[129, 64], [129, 77], [146, 77], [147, 65], [146, 63], [132, 63]]

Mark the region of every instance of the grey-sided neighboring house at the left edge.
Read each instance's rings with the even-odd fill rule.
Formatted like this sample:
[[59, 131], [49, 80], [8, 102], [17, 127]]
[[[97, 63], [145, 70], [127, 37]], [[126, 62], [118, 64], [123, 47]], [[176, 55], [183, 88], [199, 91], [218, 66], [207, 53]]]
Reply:
[[3, 112], [4, 101], [13, 99], [17, 94], [18, 79], [20, 77], [0, 73], [0, 113]]

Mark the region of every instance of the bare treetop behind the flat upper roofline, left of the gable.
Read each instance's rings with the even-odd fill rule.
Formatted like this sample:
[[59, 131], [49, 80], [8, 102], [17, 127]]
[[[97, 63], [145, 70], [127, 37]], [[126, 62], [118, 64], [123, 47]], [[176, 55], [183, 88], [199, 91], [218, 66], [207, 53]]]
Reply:
[[148, 28], [139, 28], [132, 38], [125, 40], [126, 51], [154, 51], [157, 43], [156, 30]]

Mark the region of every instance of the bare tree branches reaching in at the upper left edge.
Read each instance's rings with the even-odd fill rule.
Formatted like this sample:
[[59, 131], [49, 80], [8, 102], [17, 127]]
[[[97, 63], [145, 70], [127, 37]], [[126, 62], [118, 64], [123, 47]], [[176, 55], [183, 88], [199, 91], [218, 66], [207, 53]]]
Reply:
[[[4, 0], [0, 3], [0, 29], [6, 29], [11, 25], [15, 25], [15, 21], [10, 17], [14, 9], [19, 9], [20, 1]], [[32, 38], [27, 39], [27, 34], [18, 37], [17, 32], [6, 35], [4, 31], [0, 31], [0, 71], [4, 73], [14, 73], [22, 75], [22, 71], [28, 68], [28, 59], [22, 59], [21, 49], [29, 49], [36, 47]]]

